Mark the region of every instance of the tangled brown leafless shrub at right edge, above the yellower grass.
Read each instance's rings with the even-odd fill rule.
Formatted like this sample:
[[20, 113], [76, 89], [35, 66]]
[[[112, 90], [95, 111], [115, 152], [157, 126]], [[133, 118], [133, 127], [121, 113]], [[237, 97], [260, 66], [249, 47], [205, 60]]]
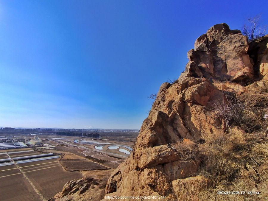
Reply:
[[[261, 91], [267, 91], [262, 88]], [[213, 108], [225, 121], [226, 130], [237, 125], [247, 132], [266, 130], [268, 121], [264, 115], [268, 114], [267, 93], [247, 93], [239, 96], [223, 91], [228, 102], [214, 104]]]

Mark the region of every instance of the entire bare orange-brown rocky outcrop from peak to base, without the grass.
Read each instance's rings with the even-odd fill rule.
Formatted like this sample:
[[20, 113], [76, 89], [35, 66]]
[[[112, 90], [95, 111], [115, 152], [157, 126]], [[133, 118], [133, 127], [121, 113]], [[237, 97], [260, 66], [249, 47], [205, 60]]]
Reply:
[[[267, 42], [258, 46], [267, 46]], [[261, 54], [257, 53], [254, 63], [248, 48], [247, 38], [227, 24], [216, 24], [197, 38], [179, 79], [160, 86], [134, 151], [110, 176], [106, 195], [175, 193], [178, 200], [197, 199], [195, 195], [211, 182], [196, 175], [201, 161], [185, 160], [175, 144], [183, 139], [193, 144], [209, 142], [225, 132], [225, 121], [213, 110], [228, 102], [222, 92], [247, 91], [241, 84], [252, 81], [253, 65], [267, 76], [267, 49], [259, 48]]]

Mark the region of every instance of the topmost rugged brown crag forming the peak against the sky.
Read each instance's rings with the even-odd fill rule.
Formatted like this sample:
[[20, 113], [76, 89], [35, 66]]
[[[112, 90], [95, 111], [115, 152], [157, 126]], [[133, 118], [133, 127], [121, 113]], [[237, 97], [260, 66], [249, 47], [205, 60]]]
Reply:
[[186, 72], [194, 77], [248, 81], [253, 78], [253, 65], [247, 54], [247, 38], [227, 24], [216, 24], [201, 35], [187, 56]]

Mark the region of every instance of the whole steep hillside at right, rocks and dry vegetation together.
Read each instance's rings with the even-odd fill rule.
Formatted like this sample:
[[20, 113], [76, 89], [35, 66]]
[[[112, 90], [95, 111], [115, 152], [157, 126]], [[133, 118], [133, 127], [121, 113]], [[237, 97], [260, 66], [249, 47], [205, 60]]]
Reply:
[[[110, 176], [105, 196], [264, 200], [267, 42], [268, 35], [248, 44], [227, 24], [216, 24], [197, 38], [185, 71], [160, 86], [134, 152]], [[87, 200], [88, 193], [75, 192], [55, 200]]]

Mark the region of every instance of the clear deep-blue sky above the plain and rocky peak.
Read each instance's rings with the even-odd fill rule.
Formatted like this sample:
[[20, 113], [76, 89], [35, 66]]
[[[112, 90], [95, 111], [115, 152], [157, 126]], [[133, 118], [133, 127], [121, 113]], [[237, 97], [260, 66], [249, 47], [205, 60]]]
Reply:
[[267, 2], [0, 0], [0, 126], [139, 129], [198, 36]]

